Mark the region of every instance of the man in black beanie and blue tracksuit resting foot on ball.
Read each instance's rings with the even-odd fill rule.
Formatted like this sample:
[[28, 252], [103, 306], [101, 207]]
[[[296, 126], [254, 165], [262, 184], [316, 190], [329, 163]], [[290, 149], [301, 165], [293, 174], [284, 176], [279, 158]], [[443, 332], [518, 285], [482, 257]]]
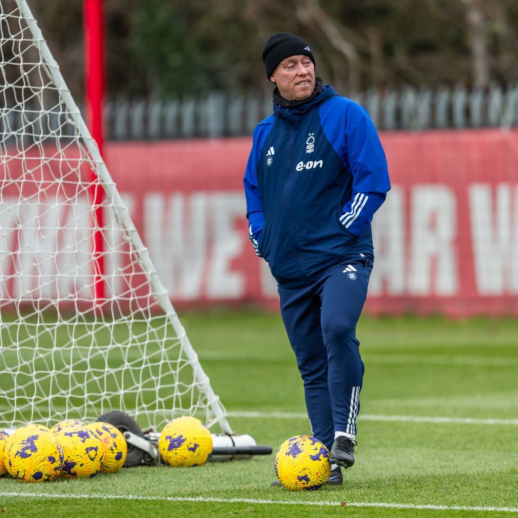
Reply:
[[278, 282], [312, 435], [330, 450], [328, 483], [341, 484], [340, 466], [354, 464], [364, 373], [355, 330], [373, 264], [370, 222], [389, 174], [368, 113], [315, 79], [303, 39], [274, 34], [263, 62], [276, 88], [244, 175], [249, 238]]

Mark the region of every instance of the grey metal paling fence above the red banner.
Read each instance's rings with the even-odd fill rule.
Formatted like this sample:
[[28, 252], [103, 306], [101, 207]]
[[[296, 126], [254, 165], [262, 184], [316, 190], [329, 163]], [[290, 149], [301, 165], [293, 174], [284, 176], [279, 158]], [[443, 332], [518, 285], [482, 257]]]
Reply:
[[[454, 88], [369, 90], [351, 96], [365, 106], [379, 130], [518, 126], [518, 86], [487, 91]], [[147, 102], [119, 99], [106, 107], [113, 140], [251, 135], [272, 111], [271, 94], [211, 92], [197, 98]]]

